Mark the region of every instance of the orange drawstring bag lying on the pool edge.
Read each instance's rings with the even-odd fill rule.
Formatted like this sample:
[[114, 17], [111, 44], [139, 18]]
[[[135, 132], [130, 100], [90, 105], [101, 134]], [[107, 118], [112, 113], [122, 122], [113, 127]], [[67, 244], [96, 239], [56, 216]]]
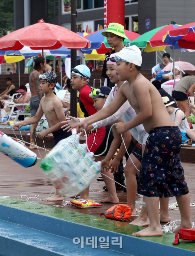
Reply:
[[103, 214], [107, 219], [114, 219], [114, 221], [130, 221], [131, 207], [126, 204], [116, 204], [105, 213], [100, 213], [98, 217], [101, 217]]

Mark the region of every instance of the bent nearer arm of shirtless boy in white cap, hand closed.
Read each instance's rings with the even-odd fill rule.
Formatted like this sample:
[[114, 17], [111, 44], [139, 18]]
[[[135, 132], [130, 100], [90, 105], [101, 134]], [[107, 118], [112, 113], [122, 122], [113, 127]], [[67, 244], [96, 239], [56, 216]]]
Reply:
[[136, 99], [138, 100], [140, 112], [126, 124], [117, 123], [116, 129], [118, 133], [129, 131], [130, 129], [144, 123], [152, 115], [152, 102], [149, 94], [149, 85], [146, 83], [143, 86], [143, 84], [138, 80], [134, 82], [133, 91]]

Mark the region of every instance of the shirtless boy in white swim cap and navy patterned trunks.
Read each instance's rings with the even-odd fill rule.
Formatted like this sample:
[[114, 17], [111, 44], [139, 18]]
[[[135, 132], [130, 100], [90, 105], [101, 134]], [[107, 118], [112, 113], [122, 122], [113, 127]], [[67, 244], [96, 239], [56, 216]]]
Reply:
[[[191, 229], [190, 196], [180, 164], [181, 133], [170, 118], [157, 89], [140, 74], [142, 56], [138, 47], [123, 48], [115, 57], [117, 75], [123, 84], [109, 104], [78, 124], [78, 132], [89, 124], [114, 114], [128, 100], [136, 116], [126, 124], [116, 124], [123, 133], [141, 123], [149, 133], [141, 162], [138, 193], [144, 195], [149, 214], [149, 227], [134, 236], [160, 236], [159, 197], [175, 196], [181, 213], [180, 228]], [[166, 150], [165, 150], [166, 147]]]

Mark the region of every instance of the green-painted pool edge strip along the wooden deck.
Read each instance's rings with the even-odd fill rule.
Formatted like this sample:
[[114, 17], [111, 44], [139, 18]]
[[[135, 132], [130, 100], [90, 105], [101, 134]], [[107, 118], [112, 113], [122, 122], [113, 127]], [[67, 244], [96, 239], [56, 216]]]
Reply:
[[[0, 196], [0, 204], [4, 206], [13, 207], [19, 210], [25, 210], [27, 212], [42, 214], [52, 218], [63, 219], [65, 221], [74, 222], [77, 224], [86, 225], [86, 226], [94, 227], [97, 229], [116, 232], [118, 234], [123, 234], [123, 235], [133, 236], [132, 235], [133, 232], [137, 232], [142, 229], [145, 229], [145, 227], [131, 225], [129, 223], [113, 221], [113, 220], [102, 218], [102, 217], [99, 218], [86, 213], [74, 212], [71, 210], [58, 208], [55, 206], [28, 202], [22, 199], [16, 199], [12, 197]], [[99, 209], [100, 209], [100, 212], [102, 212], [101, 207]], [[162, 236], [144, 236], [144, 237], [136, 237], [136, 238], [149, 240], [152, 242], [157, 242], [157, 243], [165, 244], [168, 246], [173, 246], [175, 234], [170, 232], [166, 232], [166, 233], [163, 232]], [[188, 240], [180, 240], [180, 241], [181, 243], [175, 247], [187, 249], [190, 251], [195, 251], [195, 242], [188, 241]]]

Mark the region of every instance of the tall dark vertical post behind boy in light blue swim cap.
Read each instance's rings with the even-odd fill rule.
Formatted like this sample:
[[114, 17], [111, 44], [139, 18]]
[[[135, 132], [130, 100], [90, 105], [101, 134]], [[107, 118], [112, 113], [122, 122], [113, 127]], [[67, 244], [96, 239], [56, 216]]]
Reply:
[[[71, 31], [77, 32], [77, 10], [76, 0], [71, 0]], [[70, 50], [71, 68], [77, 65], [77, 49]], [[70, 86], [70, 115], [77, 117], [77, 91]]]

